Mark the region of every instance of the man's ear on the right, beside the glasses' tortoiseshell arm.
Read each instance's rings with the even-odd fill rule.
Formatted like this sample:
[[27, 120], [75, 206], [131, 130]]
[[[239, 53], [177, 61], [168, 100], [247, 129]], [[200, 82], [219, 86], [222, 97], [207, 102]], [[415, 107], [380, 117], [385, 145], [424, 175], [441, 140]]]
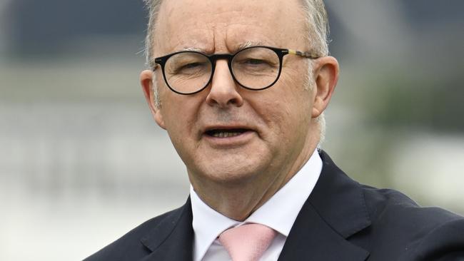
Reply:
[[338, 81], [339, 66], [336, 58], [332, 56], [321, 57], [315, 63], [314, 86], [316, 96], [314, 97], [312, 117], [317, 118], [326, 110], [328, 103]]

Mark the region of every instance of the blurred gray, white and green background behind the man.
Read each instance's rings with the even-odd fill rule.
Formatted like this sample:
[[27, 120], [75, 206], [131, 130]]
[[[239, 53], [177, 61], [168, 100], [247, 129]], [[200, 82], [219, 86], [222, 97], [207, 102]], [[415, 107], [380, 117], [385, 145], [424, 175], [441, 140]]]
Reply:
[[[341, 80], [323, 148], [464, 214], [464, 1], [327, 0]], [[182, 205], [138, 84], [141, 0], [0, 0], [0, 260], [82, 260]]]

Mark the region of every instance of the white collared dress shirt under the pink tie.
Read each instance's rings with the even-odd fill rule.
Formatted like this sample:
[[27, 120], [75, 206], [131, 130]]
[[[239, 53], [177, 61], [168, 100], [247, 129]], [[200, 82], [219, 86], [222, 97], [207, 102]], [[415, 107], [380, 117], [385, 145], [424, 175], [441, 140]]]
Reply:
[[230, 227], [236, 227], [245, 223], [258, 223], [267, 225], [276, 230], [274, 238], [260, 261], [277, 260], [281, 254], [283, 244], [288, 233], [300, 213], [303, 204], [313, 191], [314, 185], [321, 175], [322, 160], [315, 150], [303, 168], [291, 178], [280, 190], [277, 191], [261, 208], [258, 208], [245, 221], [240, 222], [227, 218], [216, 212], [204, 203], [190, 187], [190, 198], [193, 213], [193, 242], [194, 261], [228, 261], [231, 257], [221, 245], [218, 236]]

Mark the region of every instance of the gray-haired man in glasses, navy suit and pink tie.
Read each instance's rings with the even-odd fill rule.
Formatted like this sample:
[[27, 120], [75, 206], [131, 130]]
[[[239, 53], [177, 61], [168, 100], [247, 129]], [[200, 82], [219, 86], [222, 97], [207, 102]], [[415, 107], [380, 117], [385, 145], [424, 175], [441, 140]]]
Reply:
[[317, 149], [338, 80], [321, 0], [148, 6], [141, 85], [191, 195], [87, 260], [464, 260], [463, 218]]

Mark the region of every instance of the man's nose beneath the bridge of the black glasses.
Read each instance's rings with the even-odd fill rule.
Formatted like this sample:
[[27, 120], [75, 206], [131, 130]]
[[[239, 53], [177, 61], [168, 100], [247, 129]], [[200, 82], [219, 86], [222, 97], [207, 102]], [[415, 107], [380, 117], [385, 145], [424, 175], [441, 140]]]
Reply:
[[216, 61], [216, 68], [211, 81], [211, 89], [206, 97], [206, 102], [211, 106], [226, 108], [227, 106], [243, 105], [243, 98], [238, 93], [236, 82], [233, 81], [227, 61]]

